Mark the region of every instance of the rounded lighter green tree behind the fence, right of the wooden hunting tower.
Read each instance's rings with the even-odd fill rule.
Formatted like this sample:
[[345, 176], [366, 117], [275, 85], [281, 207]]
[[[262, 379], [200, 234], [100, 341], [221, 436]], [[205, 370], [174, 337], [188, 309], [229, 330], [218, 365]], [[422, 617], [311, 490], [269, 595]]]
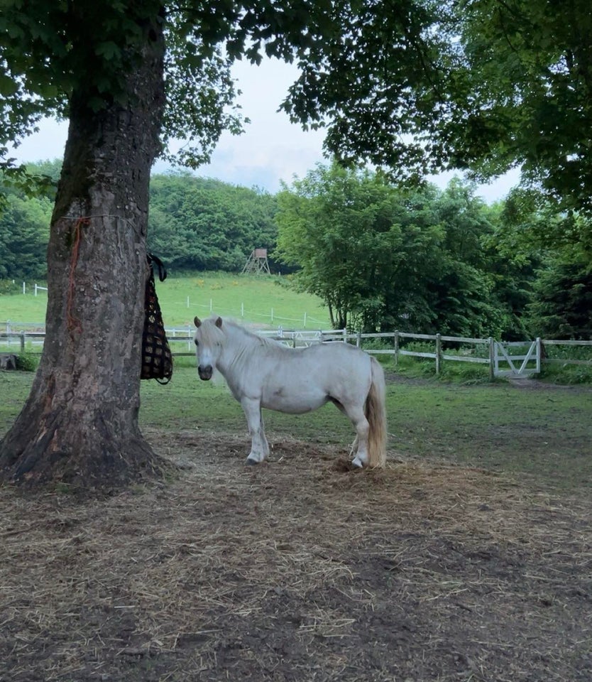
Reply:
[[403, 298], [417, 290], [407, 283], [441, 237], [437, 228], [413, 224], [402, 193], [381, 175], [336, 163], [285, 187], [276, 221], [276, 255], [300, 265], [297, 283], [327, 303], [336, 328], [384, 323], [385, 291], [398, 290], [390, 299], [393, 319], [408, 315]]

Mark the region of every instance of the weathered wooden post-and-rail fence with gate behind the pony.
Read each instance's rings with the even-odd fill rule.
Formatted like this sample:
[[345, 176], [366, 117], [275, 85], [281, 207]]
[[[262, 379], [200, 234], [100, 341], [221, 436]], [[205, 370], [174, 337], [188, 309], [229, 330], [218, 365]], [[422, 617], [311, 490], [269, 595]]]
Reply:
[[[173, 355], [193, 355], [193, 335], [191, 328], [170, 328], [166, 330]], [[581, 364], [592, 367], [592, 359], [569, 359], [547, 357], [545, 347], [592, 347], [590, 341], [571, 340], [525, 340], [520, 342], [501, 342], [492, 337], [478, 339], [471, 337], [444, 336], [441, 334], [412, 334], [410, 332], [376, 332], [362, 334], [361, 332], [348, 332], [347, 330], [265, 330], [262, 335], [274, 338], [291, 347], [300, 347], [319, 342], [344, 342], [353, 343], [363, 348], [369, 354], [393, 355], [395, 364], [401, 356], [421, 357], [434, 360], [436, 373], [442, 370], [442, 363], [446, 362], [474, 362], [487, 364], [490, 379], [500, 376], [528, 377], [538, 374], [544, 363], [561, 362], [563, 364]], [[9, 350], [12, 345], [18, 345], [19, 352], [24, 353], [31, 345], [33, 349], [28, 352], [41, 352], [45, 332], [0, 332], [1, 350]], [[368, 341], [380, 341], [380, 347], [368, 347]], [[432, 350], [408, 350], [402, 347], [406, 341], [433, 343]], [[187, 348], [178, 350], [180, 344], [186, 344]], [[456, 345], [457, 352], [452, 353], [444, 348], [446, 344]], [[376, 345], [376, 343], [375, 343]], [[464, 348], [463, 348], [464, 346]], [[466, 347], [468, 346], [468, 348]], [[6, 348], [7, 347], [7, 348]]]

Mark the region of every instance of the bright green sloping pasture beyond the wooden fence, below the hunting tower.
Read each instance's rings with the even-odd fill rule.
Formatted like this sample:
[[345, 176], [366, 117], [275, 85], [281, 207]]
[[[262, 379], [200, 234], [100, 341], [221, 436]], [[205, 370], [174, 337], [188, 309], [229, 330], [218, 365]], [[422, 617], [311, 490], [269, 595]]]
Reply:
[[[195, 315], [206, 317], [210, 310], [248, 323], [283, 328], [329, 329], [329, 313], [322, 300], [286, 286], [280, 276], [226, 273], [197, 273], [156, 282], [156, 293], [167, 328], [192, 325]], [[43, 325], [47, 293], [0, 296], [0, 324]], [[241, 317], [242, 315], [242, 317]]]

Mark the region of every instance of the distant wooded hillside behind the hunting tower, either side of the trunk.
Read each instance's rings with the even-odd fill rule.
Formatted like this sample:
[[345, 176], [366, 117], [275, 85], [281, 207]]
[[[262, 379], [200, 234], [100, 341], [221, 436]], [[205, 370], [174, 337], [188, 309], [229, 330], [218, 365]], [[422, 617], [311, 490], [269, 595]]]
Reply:
[[[45, 249], [60, 161], [35, 163], [50, 178], [42, 195], [11, 188], [0, 212], [0, 279], [45, 279]], [[275, 196], [188, 172], [153, 175], [148, 249], [170, 274], [196, 270], [240, 272], [253, 249], [273, 249], [278, 237]], [[270, 259], [277, 270], [285, 266]]]

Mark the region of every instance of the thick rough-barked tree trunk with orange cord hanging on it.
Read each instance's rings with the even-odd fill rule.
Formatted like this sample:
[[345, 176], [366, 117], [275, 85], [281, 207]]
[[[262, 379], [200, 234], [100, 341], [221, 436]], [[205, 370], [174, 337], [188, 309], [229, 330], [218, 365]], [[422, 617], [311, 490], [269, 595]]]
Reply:
[[163, 471], [138, 428], [148, 188], [164, 104], [158, 23], [136, 53], [123, 98], [95, 112], [84, 88], [72, 94], [45, 346], [0, 443], [4, 480], [113, 488]]

